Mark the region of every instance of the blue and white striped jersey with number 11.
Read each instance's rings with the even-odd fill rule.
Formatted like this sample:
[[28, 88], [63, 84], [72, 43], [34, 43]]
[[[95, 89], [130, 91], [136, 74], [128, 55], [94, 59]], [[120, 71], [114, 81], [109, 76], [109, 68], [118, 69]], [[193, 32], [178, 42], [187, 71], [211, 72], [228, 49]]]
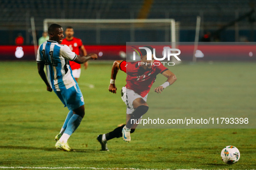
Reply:
[[36, 61], [45, 63], [47, 79], [52, 89], [61, 91], [76, 84], [68, 61], [75, 58], [76, 54], [67, 45], [48, 40], [39, 46]]

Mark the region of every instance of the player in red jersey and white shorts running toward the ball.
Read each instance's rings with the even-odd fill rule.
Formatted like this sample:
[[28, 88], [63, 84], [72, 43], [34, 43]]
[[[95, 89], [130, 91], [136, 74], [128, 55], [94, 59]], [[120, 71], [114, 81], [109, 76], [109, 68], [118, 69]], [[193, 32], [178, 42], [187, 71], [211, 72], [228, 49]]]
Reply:
[[[147, 60], [146, 50], [141, 49], [141, 61], [126, 62], [115, 61], [112, 66], [109, 91], [117, 93], [115, 79], [118, 70], [126, 72], [126, 86], [122, 88], [122, 100], [126, 104], [126, 125], [117, 127], [112, 132], [98, 135], [97, 140], [100, 142], [101, 150], [108, 151], [107, 141], [113, 138], [123, 136], [125, 142], [130, 142], [130, 133], [133, 133], [138, 124], [133, 124], [131, 120], [139, 120], [143, 114], [149, 109], [146, 103], [149, 90], [156, 80], [156, 76], [161, 73], [167, 78], [159, 87], [155, 88], [156, 93], [161, 93], [167, 86], [172, 85], [176, 81], [176, 76], [161, 62], [154, 60], [153, 48], [146, 46], [152, 51], [152, 60]], [[138, 122], [138, 121], [137, 121]]]

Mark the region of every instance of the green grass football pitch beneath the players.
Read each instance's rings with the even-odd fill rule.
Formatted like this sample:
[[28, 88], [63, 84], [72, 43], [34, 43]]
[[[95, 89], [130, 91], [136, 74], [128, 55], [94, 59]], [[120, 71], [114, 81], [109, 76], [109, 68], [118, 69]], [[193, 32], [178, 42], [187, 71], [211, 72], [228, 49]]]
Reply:
[[[100, 151], [97, 135], [125, 123], [120, 89], [126, 74], [118, 73], [118, 93], [110, 93], [112, 63], [91, 61], [82, 69], [85, 116], [69, 139], [75, 151], [65, 152], [55, 149], [54, 138], [68, 109], [54, 92], [46, 91], [36, 62], [0, 62], [0, 169], [256, 169], [256, 129], [136, 129], [130, 143], [112, 139], [110, 152]], [[169, 69], [177, 81], [162, 94], [151, 89], [149, 110], [168, 106], [170, 116], [255, 116], [255, 63], [182, 63]], [[159, 75], [152, 88], [165, 80]], [[237, 164], [221, 161], [220, 151], [227, 145], [240, 150]]]

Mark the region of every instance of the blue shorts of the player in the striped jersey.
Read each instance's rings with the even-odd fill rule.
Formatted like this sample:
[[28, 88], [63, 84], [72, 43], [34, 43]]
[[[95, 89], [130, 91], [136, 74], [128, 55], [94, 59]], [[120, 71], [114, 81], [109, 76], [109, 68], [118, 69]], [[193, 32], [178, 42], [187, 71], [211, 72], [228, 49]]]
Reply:
[[76, 86], [71, 88], [54, 92], [57, 94], [58, 98], [62, 101], [65, 107], [68, 107], [68, 110], [75, 110], [84, 105], [83, 94], [77, 83]]

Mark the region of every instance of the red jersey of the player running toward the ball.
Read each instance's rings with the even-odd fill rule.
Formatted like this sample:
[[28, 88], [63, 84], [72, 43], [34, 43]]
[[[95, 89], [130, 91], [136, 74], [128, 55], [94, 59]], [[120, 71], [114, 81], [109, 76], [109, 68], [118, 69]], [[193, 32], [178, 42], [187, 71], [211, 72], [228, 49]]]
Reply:
[[139, 66], [138, 62], [122, 61], [120, 63], [120, 69], [126, 72], [126, 88], [135, 91], [137, 94], [145, 97], [156, 80], [156, 75], [168, 70], [162, 65], [160, 61], [155, 60], [152, 64], [152, 69], [143, 69]]

